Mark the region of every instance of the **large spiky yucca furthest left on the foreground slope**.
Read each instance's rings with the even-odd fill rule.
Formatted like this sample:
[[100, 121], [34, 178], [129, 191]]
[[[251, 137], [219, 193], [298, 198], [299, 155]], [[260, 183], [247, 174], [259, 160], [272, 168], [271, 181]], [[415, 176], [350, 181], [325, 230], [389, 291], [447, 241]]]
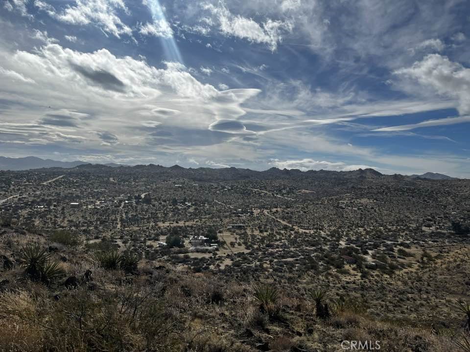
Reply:
[[20, 252], [20, 263], [25, 266], [24, 273], [34, 281], [48, 284], [54, 278], [65, 274], [61, 265], [58, 262], [52, 262], [46, 248], [37, 242], [29, 242], [23, 246]]

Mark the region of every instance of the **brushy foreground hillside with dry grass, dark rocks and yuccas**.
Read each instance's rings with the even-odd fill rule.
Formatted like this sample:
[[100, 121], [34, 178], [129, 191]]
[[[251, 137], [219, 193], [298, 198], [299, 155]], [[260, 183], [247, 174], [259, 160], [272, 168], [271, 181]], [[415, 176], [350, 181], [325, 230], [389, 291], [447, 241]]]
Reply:
[[261, 283], [125, 250], [119, 263], [109, 243], [66, 233], [4, 224], [0, 234], [0, 351], [341, 351], [342, 341], [372, 341], [424, 352], [458, 351], [462, 341], [464, 245], [412, 248], [413, 265], [397, 275]]

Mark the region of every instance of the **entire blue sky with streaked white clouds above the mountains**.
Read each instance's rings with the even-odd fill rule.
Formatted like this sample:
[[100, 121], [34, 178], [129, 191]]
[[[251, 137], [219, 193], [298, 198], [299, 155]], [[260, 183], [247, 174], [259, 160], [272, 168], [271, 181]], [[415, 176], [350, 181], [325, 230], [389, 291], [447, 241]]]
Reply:
[[0, 0], [0, 155], [470, 178], [468, 0]]

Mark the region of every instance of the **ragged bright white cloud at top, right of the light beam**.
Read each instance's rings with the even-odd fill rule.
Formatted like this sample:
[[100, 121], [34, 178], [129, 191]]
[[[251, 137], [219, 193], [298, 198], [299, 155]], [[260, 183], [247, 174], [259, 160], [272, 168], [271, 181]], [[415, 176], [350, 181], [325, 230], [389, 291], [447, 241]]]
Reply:
[[223, 2], [219, 2], [218, 6], [205, 4], [204, 8], [216, 17], [222, 34], [246, 39], [253, 43], [267, 44], [273, 51], [282, 41], [282, 33], [293, 29], [293, 22], [288, 20], [267, 19], [259, 24], [251, 18], [234, 15]]

